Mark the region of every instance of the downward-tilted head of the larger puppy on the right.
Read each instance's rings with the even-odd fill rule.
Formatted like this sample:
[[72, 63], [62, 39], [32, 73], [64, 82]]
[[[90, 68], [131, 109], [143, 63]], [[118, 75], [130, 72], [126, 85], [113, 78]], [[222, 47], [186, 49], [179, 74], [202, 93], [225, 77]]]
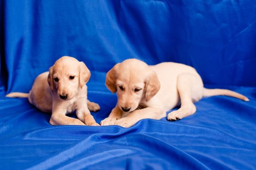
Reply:
[[125, 60], [109, 70], [106, 86], [112, 93], [117, 92], [118, 107], [124, 112], [134, 111], [140, 102], [148, 102], [160, 89], [155, 71], [137, 59]]

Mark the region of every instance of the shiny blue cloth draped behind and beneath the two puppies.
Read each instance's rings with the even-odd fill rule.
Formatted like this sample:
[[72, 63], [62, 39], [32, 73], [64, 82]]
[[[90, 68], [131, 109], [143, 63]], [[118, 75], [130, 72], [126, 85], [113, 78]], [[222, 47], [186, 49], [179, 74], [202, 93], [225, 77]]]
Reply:
[[[0, 0], [0, 169], [256, 169], [255, 11], [255, 0]], [[204, 98], [179, 121], [122, 128], [52, 126], [27, 99], [4, 97], [29, 92], [63, 55], [91, 70], [98, 123], [117, 102], [105, 74], [127, 58], [193, 66], [207, 87], [250, 102]]]

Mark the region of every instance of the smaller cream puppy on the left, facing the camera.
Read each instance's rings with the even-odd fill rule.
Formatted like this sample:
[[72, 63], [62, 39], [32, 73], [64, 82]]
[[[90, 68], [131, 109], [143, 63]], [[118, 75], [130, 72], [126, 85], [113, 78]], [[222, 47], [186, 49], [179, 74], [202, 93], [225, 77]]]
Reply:
[[[90, 111], [99, 110], [99, 105], [87, 100], [87, 86], [91, 73], [83, 62], [63, 56], [40, 74], [28, 93], [14, 92], [6, 97], [28, 97], [31, 104], [43, 112], [52, 113], [52, 125], [95, 125]], [[66, 114], [76, 110], [78, 119]], [[85, 124], [84, 124], [85, 123]]]

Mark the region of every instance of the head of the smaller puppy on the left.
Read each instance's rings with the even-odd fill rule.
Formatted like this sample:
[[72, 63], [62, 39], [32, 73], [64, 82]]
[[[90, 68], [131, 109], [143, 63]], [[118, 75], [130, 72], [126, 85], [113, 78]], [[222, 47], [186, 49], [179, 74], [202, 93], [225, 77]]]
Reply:
[[90, 71], [83, 62], [63, 56], [49, 68], [48, 84], [60, 100], [71, 100], [90, 78]]

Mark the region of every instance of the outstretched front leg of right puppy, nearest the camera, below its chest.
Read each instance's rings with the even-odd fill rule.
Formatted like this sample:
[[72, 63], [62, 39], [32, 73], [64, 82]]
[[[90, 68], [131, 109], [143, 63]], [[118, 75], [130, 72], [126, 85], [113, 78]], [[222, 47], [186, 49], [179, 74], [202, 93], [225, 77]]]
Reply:
[[141, 119], [161, 119], [166, 116], [166, 112], [157, 107], [147, 107], [131, 112], [126, 117], [115, 121], [115, 125], [131, 127]]

